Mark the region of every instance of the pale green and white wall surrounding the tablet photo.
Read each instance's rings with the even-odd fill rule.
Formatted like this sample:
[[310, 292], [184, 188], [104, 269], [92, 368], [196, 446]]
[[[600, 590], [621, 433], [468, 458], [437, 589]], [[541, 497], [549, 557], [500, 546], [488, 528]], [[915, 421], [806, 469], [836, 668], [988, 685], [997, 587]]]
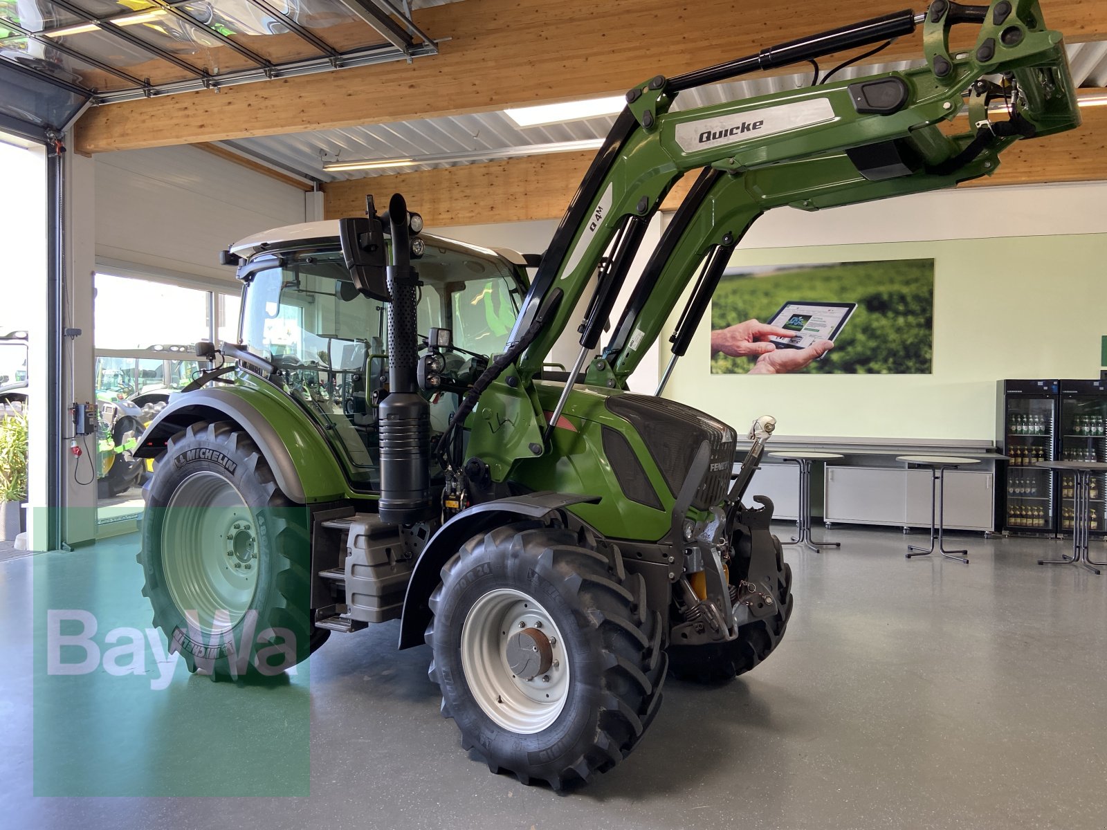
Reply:
[[769, 214], [732, 266], [932, 257], [932, 374], [712, 374], [705, 321], [666, 397], [738, 427], [772, 414], [780, 435], [993, 439], [999, 378], [1098, 377], [1105, 198], [1103, 184], [976, 188]]

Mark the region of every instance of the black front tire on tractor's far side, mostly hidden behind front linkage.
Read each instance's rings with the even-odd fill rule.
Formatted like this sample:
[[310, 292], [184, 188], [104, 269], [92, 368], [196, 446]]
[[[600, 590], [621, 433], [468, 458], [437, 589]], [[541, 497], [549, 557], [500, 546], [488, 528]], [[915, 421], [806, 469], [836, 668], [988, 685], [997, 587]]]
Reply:
[[[669, 672], [682, 681], [722, 683], [745, 674], [765, 660], [784, 637], [792, 616], [792, 566], [784, 561], [780, 540], [772, 537], [776, 561], [776, 613], [747, 623], [726, 643], [669, 646]], [[733, 579], [733, 578], [732, 578]]]

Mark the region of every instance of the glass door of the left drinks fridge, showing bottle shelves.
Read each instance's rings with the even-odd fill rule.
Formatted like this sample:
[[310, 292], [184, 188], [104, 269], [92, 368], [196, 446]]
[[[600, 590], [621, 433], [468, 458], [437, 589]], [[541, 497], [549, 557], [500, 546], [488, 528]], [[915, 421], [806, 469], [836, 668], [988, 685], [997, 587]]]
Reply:
[[1054, 478], [1036, 466], [1054, 459], [1056, 398], [1007, 395], [1004, 413], [1007, 473], [1006, 527], [1054, 532]]

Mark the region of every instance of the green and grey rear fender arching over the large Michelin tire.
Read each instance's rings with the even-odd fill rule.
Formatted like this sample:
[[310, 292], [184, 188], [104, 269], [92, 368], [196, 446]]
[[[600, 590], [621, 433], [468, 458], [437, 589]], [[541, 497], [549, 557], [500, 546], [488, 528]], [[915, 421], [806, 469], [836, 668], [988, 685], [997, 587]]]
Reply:
[[278, 487], [297, 504], [342, 498], [345, 476], [323, 437], [291, 406], [263, 400], [265, 414], [234, 390], [200, 388], [174, 395], [142, 435], [134, 455], [156, 458], [170, 437], [197, 421], [234, 421], [258, 445]]

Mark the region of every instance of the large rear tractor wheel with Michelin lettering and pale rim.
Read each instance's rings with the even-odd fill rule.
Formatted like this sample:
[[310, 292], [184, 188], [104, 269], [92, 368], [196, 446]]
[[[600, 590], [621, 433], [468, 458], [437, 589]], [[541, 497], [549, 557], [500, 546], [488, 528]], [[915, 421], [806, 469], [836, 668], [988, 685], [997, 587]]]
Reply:
[[327, 639], [313, 630], [307, 510], [231, 422], [169, 439], [145, 490], [143, 594], [189, 672], [275, 675]]

